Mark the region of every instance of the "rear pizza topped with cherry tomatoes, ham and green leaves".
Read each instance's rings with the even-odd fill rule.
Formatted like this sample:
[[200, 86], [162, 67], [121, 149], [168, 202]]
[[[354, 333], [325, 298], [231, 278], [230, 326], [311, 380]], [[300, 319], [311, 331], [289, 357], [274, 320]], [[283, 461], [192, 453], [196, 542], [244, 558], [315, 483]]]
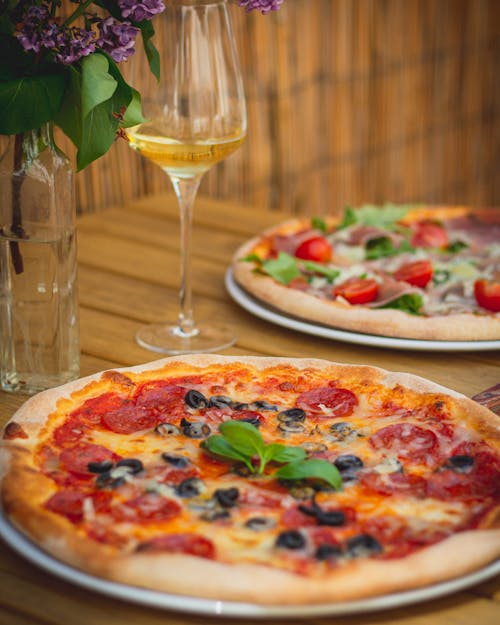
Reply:
[[245, 243], [232, 269], [252, 295], [307, 321], [500, 339], [500, 209], [364, 206], [292, 219]]

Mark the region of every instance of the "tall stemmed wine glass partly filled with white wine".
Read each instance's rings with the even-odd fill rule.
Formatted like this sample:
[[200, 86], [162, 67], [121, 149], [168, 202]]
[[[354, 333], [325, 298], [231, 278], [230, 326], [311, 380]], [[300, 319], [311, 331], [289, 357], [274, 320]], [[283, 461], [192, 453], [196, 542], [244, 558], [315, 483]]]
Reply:
[[143, 326], [136, 340], [166, 354], [213, 352], [232, 345], [235, 337], [216, 320], [195, 323], [191, 233], [204, 173], [234, 152], [246, 135], [245, 98], [226, 0], [169, 0], [155, 18], [155, 31], [160, 81], [150, 76], [144, 59], [132, 57], [132, 79], [141, 72], [147, 121], [126, 132], [129, 145], [167, 173], [179, 202], [180, 310], [175, 323]]

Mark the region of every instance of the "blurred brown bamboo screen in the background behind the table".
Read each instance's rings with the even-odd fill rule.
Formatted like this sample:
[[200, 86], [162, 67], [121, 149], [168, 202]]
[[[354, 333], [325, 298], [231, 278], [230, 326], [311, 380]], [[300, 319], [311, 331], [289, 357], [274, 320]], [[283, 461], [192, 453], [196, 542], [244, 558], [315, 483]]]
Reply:
[[[293, 214], [499, 203], [498, 0], [285, 0], [268, 16], [230, 11], [249, 134], [202, 193]], [[97, 210], [168, 188], [118, 141], [77, 175], [77, 202]]]

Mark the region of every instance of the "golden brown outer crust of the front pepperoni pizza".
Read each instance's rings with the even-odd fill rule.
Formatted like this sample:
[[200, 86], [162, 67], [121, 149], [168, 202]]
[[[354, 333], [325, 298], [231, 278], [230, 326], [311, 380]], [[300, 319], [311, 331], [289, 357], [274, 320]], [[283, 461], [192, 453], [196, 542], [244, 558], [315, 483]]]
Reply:
[[435, 394], [447, 398], [470, 428], [499, 448], [498, 418], [465, 396], [424, 378], [383, 369], [345, 365], [317, 359], [284, 359], [195, 355], [172, 357], [154, 363], [104, 372], [46, 391], [32, 399], [12, 417], [29, 433], [27, 439], [4, 440], [1, 448], [2, 498], [8, 517], [47, 552], [91, 574], [146, 588], [257, 604], [313, 604], [347, 601], [418, 588], [459, 577], [500, 556], [498, 518], [492, 513], [489, 526], [460, 532], [394, 560], [348, 561], [325, 571], [321, 580], [253, 564], [226, 564], [182, 554], [128, 553], [89, 541], [65, 518], [47, 511], [44, 501], [57, 487], [37, 471], [33, 451], [51, 413], [70, 396], [87, 398], [111, 388], [127, 390], [155, 379], [203, 371], [266, 371], [287, 378], [291, 368], [318, 376], [342, 379], [352, 385], [380, 384], [401, 394]]

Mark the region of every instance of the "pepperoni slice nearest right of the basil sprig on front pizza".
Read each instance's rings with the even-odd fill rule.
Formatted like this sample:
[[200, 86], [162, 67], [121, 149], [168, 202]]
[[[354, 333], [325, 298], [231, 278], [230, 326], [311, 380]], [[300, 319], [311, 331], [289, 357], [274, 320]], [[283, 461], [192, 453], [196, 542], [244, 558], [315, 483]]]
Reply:
[[439, 442], [432, 430], [413, 423], [394, 423], [377, 430], [368, 439], [374, 449], [396, 454], [403, 460], [432, 463]]

